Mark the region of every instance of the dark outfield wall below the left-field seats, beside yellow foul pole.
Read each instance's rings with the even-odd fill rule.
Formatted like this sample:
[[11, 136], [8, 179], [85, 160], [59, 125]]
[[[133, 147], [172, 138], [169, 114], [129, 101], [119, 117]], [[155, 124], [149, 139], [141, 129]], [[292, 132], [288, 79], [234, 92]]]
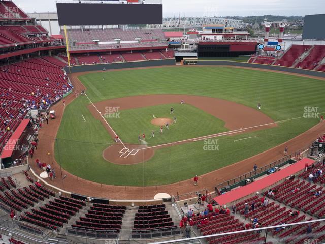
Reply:
[[113, 70], [113, 69], [140, 68], [140, 67], [165, 66], [165, 65], [176, 65], [176, 61], [174, 58], [172, 58], [172, 59], [144, 60], [144, 61], [134, 61], [134, 62], [118, 62], [118, 63], [108, 63], [108, 64], [75, 65], [75, 66], [71, 66], [70, 68], [64, 67], [63, 69], [67, 74], [72, 74], [76, 72], [100, 71], [103, 69]]

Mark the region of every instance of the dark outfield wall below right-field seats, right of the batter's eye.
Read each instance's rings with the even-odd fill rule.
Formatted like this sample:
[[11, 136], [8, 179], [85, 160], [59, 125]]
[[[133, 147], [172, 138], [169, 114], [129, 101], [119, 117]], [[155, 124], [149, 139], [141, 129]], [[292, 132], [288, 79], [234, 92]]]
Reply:
[[314, 71], [314, 70], [304, 70], [299, 68], [290, 68], [290, 67], [283, 67], [283, 66], [275, 66], [275, 65], [263, 65], [263, 64], [252, 64], [252, 63], [245, 63], [245, 62], [236, 62], [236, 61], [198, 61], [198, 65], [228, 65], [234, 67], [246, 67], [246, 68], [256, 68], [256, 69], [265, 69], [270, 71], [281, 71], [281, 72], [288, 72], [288, 73], [296, 73], [302, 75], [310, 75], [325, 78], [325, 72], [321, 71]]

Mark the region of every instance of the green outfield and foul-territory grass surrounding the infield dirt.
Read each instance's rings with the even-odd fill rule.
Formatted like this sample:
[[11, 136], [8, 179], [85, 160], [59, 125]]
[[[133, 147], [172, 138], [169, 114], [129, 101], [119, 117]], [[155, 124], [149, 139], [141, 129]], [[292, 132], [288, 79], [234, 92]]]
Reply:
[[[143, 94], [209, 96], [252, 108], [260, 102], [261, 111], [275, 121], [301, 117], [305, 106], [319, 106], [320, 112], [325, 111], [323, 81], [266, 71], [166, 67], [93, 73], [81, 76], [80, 80], [93, 102]], [[318, 118], [288, 120], [263, 131], [218, 137], [216, 151], [204, 150], [204, 141], [198, 141], [158, 149], [145, 163], [116, 165], [102, 158], [102, 151], [112, 139], [101, 122], [91, 115], [88, 104], [87, 98], [80, 96], [66, 107], [57, 134], [55, 157], [64, 169], [78, 177], [111, 185], [151, 186], [188, 179], [261, 153], [319, 121]], [[254, 137], [234, 142], [251, 136]]]

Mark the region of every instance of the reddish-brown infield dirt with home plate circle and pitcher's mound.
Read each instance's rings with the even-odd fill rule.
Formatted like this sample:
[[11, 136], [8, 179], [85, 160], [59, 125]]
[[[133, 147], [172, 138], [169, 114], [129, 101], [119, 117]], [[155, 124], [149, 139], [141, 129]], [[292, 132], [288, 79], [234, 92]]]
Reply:
[[[176, 141], [155, 146], [150, 146], [150, 144], [147, 144], [147, 146], [124, 146], [120, 144], [116, 146], [109, 146], [103, 151], [104, 159], [114, 164], [127, 165], [143, 163], [153, 157], [153, 149], [156, 150], [163, 147], [191, 143], [198, 140], [219, 137], [222, 135], [234, 135], [243, 132], [247, 133], [256, 130], [264, 130], [277, 126], [276, 123], [266, 114], [262, 113], [261, 110], [250, 108], [245, 105], [228, 100], [194, 95], [158, 94], [131, 96], [110, 99], [95, 104], [90, 104], [88, 108], [92, 115], [102, 122], [103, 126], [106, 128], [109, 134], [115, 135], [115, 132], [109, 126], [107, 120], [103, 119], [102, 117], [102, 114], [105, 113], [107, 107], [119, 107], [120, 110], [126, 110], [168, 103], [180, 103], [180, 101], [186, 102], [186, 104], [183, 104], [182, 106], [187, 106], [187, 104], [190, 104], [205, 111], [206, 113], [211, 114], [212, 116], [215, 116], [216, 118], [221, 119], [222, 121], [224, 121], [225, 127], [228, 128], [230, 131], [217, 133], [214, 135], [202, 135], [201, 137], [197, 138], [188, 138], [182, 141]], [[174, 115], [171, 114], [171, 117], [173, 116]], [[173, 123], [173, 120], [170, 118], [154, 118], [151, 120], [152, 124], [156, 124], [158, 126], [165, 126], [166, 122], [171, 125]], [[241, 128], [248, 129], [241, 130]], [[123, 140], [123, 138], [121, 138], [121, 140]], [[122, 147], [124, 147], [124, 149]], [[124, 151], [127, 152], [125, 156], [124, 154], [123, 157], [120, 156], [121, 151], [122, 153], [124, 153]]]

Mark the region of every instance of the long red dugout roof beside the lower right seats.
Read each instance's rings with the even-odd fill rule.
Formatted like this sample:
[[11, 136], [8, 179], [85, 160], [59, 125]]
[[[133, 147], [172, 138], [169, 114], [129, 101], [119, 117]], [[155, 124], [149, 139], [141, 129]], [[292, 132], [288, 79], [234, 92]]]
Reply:
[[252, 193], [256, 193], [258, 191], [261, 191], [262, 189], [272, 186], [273, 184], [276, 184], [276, 182], [279, 182], [280, 180], [303, 170], [305, 168], [306, 163], [308, 165], [311, 165], [313, 162], [314, 160], [305, 158], [282, 170], [279, 170], [271, 175], [268, 175], [263, 179], [256, 180], [255, 182], [252, 182], [249, 185], [246, 185], [244, 187], [239, 187], [233, 191], [217, 196], [213, 200], [215, 200], [219, 205], [231, 203], [235, 200], [241, 199]]

